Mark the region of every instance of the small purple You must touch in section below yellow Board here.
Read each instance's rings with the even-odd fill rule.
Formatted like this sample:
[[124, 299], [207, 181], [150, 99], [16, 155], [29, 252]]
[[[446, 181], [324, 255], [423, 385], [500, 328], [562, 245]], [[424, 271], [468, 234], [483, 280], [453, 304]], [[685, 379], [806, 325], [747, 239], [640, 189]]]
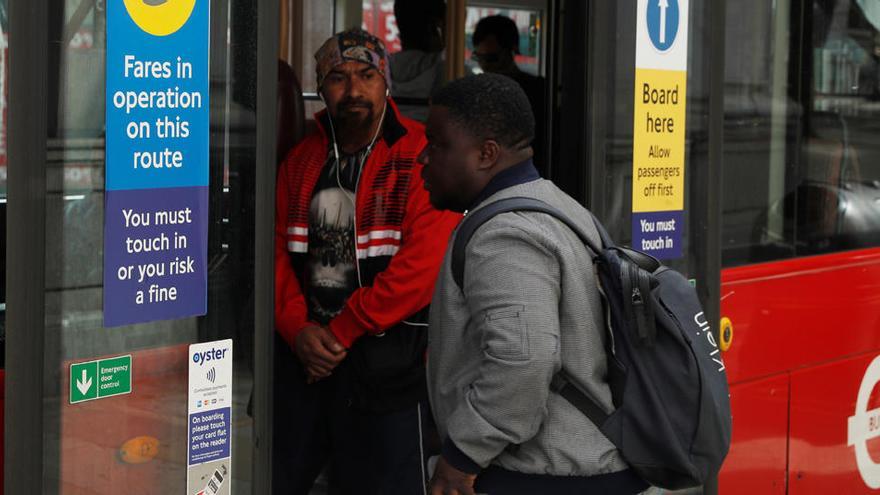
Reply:
[[657, 259], [681, 258], [683, 211], [633, 212], [632, 247]]

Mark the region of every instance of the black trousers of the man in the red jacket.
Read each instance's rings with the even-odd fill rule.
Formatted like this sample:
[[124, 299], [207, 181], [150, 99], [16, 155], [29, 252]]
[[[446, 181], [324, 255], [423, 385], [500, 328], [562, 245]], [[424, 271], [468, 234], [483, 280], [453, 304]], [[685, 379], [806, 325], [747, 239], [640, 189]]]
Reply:
[[273, 493], [307, 495], [325, 466], [330, 495], [424, 493], [426, 461], [439, 451], [427, 404], [381, 414], [357, 410], [345, 369], [306, 385], [287, 344], [278, 346]]

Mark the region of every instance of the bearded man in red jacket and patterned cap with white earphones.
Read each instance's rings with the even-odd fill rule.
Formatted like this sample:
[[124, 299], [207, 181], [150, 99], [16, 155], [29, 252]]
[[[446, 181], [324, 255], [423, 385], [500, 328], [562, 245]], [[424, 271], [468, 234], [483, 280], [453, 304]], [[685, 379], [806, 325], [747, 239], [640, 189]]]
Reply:
[[331, 494], [422, 493], [426, 307], [459, 216], [428, 201], [382, 42], [344, 31], [315, 59], [327, 109], [278, 175], [273, 486], [329, 465]]

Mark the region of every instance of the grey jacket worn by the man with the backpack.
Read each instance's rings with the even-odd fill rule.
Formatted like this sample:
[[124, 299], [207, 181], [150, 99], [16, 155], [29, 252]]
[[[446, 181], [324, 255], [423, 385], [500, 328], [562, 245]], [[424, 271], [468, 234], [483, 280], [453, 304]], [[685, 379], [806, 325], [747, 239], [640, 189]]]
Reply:
[[[511, 196], [555, 206], [599, 243], [583, 206], [543, 179], [501, 190], [480, 206]], [[557, 476], [626, 469], [586, 416], [550, 391], [564, 365], [610, 410], [603, 311], [587, 248], [545, 214], [500, 214], [467, 246], [462, 293], [450, 269], [452, 243], [431, 303], [428, 343], [428, 390], [441, 438], [483, 468]]]

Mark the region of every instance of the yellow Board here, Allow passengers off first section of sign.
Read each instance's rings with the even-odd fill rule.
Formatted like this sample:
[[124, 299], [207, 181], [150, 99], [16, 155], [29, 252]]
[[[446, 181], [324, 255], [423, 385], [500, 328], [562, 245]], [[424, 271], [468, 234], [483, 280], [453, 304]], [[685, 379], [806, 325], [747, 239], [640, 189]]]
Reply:
[[687, 72], [636, 69], [633, 212], [684, 209]]

